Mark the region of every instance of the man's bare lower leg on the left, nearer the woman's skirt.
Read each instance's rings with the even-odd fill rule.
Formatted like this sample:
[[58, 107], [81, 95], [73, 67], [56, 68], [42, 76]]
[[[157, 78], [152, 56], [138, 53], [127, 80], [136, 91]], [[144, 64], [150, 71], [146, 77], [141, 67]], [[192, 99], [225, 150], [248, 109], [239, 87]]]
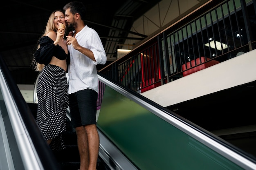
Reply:
[[76, 127], [77, 145], [80, 156], [80, 170], [88, 170], [89, 152], [88, 139], [84, 126]]

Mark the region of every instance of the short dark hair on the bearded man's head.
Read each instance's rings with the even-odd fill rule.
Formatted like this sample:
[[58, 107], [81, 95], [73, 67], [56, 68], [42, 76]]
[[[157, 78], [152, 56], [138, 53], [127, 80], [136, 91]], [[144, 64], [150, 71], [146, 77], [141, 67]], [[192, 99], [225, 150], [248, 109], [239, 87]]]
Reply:
[[86, 8], [83, 2], [79, 2], [79, 1], [69, 2], [63, 7], [64, 11], [66, 11], [67, 9], [70, 9], [70, 12], [73, 15], [76, 13], [79, 13], [79, 15], [81, 16], [81, 20], [85, 20]]

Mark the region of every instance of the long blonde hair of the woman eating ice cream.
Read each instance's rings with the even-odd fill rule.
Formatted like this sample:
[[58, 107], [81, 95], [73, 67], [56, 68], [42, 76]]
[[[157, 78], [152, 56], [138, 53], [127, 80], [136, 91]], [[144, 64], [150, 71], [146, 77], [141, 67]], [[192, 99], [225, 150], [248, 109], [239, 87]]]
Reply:
[[[51, 15], [49, 16], [49, 19], [48, 19], [48, 22], [46, 24], [46, 27], [45, 27], [45, 31], [44, 33], [41, 35], [40, 38], [42, 38], [43, 36], [45, 36], [47, 33], [49, 33], [50, 31], [54, 31], [54, 32], [57, 32], [57, 29], [55, 28], [54, 26], [54, 17], [55, 17], [55, 12], [62, 12], [65, 16], [65, 13], [62, 11], [62, 10], [55, 10], [51, 13]], [[39, 39], [40, 39], [39, 38]], [[38, 40], [39, 41], [39, 40]], [[39, 45], [39, 42], [37, 42], [37, 46], [36, 46], [36, 50], [39, 49], [40, 45]], [[33, 61], [32, 61], [32, 64], [34, 66], [34, 69], [36, 69], [36, 71], [42, 71], [43, 70], [43, 67], [45, 66], [45, 64], [39, 64], [38, 62], [36, 62], [35, 58], [33, 58]]]

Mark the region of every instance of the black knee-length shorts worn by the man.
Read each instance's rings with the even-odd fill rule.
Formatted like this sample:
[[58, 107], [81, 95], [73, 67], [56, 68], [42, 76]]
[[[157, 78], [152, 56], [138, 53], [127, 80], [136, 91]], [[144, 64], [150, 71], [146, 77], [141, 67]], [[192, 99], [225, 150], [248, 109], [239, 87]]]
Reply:
[[85, 89], [69, 96], [69, 106], [72, 127], [96, 124], [98, 93]]

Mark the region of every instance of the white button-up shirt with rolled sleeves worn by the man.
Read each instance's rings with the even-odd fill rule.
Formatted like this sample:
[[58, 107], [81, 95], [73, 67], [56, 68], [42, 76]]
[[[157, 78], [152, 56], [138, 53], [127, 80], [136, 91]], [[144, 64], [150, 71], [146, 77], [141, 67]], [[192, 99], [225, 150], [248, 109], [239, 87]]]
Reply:
[[87, 88], [99, 93], [96, 65], [105, 64], [107, 61], [101, 39], [94, 29], [85, 26], [76, 34], [76, 40], [79, 45], [92, 51], [96, 62], [75, 50], [72, 44], [67, 46], [70, 52], [70, 65], [67, 76], [69, 78], [68, 93], [75, 93]]

